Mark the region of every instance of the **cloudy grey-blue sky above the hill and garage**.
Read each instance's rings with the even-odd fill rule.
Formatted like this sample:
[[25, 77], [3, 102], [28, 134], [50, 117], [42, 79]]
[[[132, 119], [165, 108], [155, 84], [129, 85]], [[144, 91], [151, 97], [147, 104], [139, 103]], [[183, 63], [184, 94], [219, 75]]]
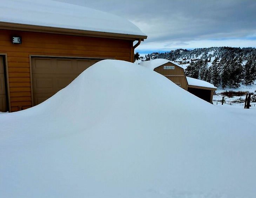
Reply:
[[136, 51], [256, 47], [256, 0], [58, 0], [122, 16], [148, 38]]

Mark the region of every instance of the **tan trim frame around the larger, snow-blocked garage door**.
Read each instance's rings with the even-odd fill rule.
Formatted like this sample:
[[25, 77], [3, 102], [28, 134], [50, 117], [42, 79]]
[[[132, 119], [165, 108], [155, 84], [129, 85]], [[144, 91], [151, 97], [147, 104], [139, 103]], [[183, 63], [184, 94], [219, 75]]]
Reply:
[[81, 57], [81, 56], [54, 56], [54, 55], [36, 55], [29, 54], [29, 70], [30, 70], [30, 86], [31, 86], [31, 103], [34, 107], [34, 96], [33, 96], [33, 81], [32, 81], [32, 58], [41, 57], [41, 58], [66, 58], [66, 59], [115, 59], [115, 57]]

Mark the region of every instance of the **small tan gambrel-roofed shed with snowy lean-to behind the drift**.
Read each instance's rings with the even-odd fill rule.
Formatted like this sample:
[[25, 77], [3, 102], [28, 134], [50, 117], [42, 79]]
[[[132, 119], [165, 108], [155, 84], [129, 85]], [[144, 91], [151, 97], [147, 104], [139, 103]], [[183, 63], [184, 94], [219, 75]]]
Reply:
[[191, 94], [213, 103], [213, 94], [217, 88], [209, 82], [185, 76], [184, 69], [175, 62], [167, 59], [153, 59], [142, 61], [139, 65], [164, 75]]

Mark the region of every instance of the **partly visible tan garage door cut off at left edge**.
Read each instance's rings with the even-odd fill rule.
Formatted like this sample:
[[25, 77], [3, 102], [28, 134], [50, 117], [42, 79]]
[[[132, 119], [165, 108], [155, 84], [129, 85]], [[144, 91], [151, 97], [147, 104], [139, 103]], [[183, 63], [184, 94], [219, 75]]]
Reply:
[[5, 69], [3, 57], [0, 56], [0, 112], [7, 111], [6, 102], [6, 87], [5, 87]]

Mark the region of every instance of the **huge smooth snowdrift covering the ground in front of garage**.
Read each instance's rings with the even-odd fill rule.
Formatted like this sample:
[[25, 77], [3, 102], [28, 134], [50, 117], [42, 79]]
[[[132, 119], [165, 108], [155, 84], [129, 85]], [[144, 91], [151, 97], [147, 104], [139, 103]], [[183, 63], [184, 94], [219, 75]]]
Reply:
[[1, 197], [255, 197], [255, 118], [240, 118], [103, 60], [45, 102], [0, 114]]

